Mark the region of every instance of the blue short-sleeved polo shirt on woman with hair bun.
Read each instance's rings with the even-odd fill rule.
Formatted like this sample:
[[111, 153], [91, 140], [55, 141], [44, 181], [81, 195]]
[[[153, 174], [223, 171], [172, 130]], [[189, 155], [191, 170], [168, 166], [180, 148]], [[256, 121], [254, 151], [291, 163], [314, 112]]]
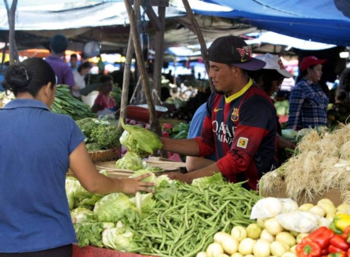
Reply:
[[33, 99], [9, 102], [0, 124], [0, 252], [76, 242], [64, 187], [82, 132], [69, 116]]

